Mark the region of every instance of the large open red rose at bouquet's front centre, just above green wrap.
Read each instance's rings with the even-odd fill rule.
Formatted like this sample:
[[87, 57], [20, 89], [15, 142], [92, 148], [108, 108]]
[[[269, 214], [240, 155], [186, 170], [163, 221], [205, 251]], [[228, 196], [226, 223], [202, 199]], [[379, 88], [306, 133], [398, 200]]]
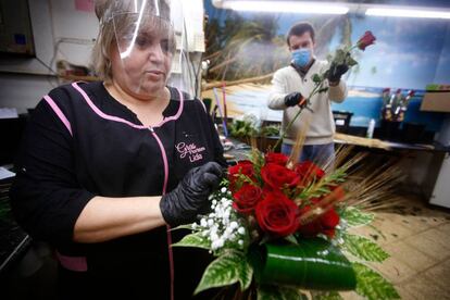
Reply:
[[267, 193], [254, 210], [263, 232], [285, 237], [299, 226], [298, 207], [282, 192]]

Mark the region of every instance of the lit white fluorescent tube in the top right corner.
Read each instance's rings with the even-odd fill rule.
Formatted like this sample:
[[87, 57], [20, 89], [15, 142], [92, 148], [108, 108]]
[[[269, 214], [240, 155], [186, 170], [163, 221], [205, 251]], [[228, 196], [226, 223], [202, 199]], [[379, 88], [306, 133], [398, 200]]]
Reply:
[[424, 9], [400, 9], [400, 8], [383, 8], [383, 9], [367, 9], [366, 15], [379, 16], [400, 16], [400, 17], [428, 17], [428, 18], [450, 18], [450, 11], [429, 11]]

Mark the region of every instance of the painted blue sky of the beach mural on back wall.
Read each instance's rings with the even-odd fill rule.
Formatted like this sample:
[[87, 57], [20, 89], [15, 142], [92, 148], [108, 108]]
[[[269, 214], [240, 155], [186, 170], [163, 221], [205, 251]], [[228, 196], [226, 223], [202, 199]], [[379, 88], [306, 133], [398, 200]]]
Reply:
[[[210, 1], [205, 1], [205, 9], [210, 16], [218, 15], [218, 10], [213, 8]], [[239, 14], [249, 20], [257, 15], [252, 12]], [[285, 35], [293, 23], [310, 16], [295, 13], [278, 14], [278, 34]], [[450, 84], [449, 22], [351, 16], [351, 23], [353, 41], [367, 29], [374, 33], [377, 41], [358, 58], [361, 67], [358, 73], [349, 74], [349, 85], [425, 89], [426, 85], [432, 83]], [[330, 51], [339, 46], [338, 38], [334, 37]]]

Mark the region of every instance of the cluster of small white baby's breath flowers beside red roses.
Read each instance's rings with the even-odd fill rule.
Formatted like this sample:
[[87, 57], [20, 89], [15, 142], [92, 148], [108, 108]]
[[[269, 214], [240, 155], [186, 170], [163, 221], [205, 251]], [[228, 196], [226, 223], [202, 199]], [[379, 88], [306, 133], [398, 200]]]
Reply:
[[192, 224], [192, 230], [211, 242], [211, 251], [222, 248], [242, 249], [246, 229], [238, 214], [233, 209], [232, 192], [223, 187], [211, 197], [212, 212]]

